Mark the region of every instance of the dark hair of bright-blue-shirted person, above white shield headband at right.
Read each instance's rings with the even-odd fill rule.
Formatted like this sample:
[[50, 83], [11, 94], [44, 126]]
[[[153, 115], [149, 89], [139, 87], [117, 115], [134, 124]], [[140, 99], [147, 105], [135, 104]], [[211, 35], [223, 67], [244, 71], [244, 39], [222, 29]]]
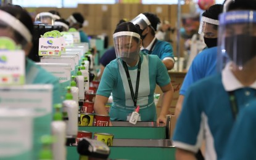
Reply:
[[218, 15], [222, 13], [223, 5], [222, 4], [214, 4], [210, 6], [209, 9], [205, 10], [202, 16], [211, 18], [213, 20], [218, 20]]

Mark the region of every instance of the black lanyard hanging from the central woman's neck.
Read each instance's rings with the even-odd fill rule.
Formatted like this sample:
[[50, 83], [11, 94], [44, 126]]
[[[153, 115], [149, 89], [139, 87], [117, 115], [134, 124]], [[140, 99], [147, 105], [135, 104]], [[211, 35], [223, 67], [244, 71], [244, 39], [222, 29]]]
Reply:
[[126, 73], [126, 76], [127, 76], [127, 79], [128, 79], [129, 87], [130, 87], [131, 98], [133, 98], [134, 107], [136, 107], [137, 106], [137, 98], [138, 98], [138, 90], [139, 90], [139, 76], [141, 74], [141, 58], [139, 57], [135, 95], [134, 95], [134, 92], [133, 92], [133, 86], [131, 84], [131, 77], [130, 77], [130, 74], [129, 74], [129, 71], [128, 71], [128, 67], [127, 67], [127, 65], [124, 61], [123, 61], [123, 66], [125, 68], [125, 73]]

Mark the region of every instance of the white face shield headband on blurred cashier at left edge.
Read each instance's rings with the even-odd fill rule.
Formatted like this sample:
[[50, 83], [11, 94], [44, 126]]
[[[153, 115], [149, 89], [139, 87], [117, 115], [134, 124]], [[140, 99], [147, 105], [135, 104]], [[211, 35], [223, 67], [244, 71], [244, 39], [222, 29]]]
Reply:
[[27, 27], [23, 25], [23, 23], [20, 22], [17, 18], [8, 14], [7, 12], [4, 12], [3, 10], [0, 10], [0, 20], [17, 31], [17, 33], [23, 36], [27, 42], [31, 42], [32, 36], [30, 31], [28, 31]]

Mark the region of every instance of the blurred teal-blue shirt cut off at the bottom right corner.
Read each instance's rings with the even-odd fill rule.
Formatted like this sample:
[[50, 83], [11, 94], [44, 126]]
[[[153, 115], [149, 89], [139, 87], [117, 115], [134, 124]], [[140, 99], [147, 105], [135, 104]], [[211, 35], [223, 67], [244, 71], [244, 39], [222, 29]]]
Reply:
[[256, 159], [256, 101], [239, 111], [222, 160]]

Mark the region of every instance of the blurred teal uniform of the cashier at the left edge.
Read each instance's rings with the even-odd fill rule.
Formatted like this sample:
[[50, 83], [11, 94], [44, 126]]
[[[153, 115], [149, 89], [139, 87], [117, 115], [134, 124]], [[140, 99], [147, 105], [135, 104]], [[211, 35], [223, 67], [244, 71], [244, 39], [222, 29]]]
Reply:
[[56, 103], [62, 103], [59, 79], [41, 68], [41, 66], [36, 65], [29, 58], [26, 58], [26, 84], [52, 84], [52, 106]]

